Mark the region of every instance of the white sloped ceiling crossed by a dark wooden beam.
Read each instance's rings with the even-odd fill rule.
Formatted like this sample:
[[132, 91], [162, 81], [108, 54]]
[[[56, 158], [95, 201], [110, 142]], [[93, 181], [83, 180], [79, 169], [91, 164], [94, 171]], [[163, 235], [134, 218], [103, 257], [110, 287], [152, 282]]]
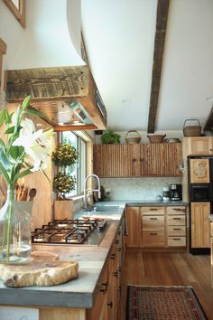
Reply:
[[[108, 128], [147, 130], [157, 0], [81, 0], [88, 60]], [[171, 0], [156, 131], [208, 118], [213, 95], [213, 1]]]

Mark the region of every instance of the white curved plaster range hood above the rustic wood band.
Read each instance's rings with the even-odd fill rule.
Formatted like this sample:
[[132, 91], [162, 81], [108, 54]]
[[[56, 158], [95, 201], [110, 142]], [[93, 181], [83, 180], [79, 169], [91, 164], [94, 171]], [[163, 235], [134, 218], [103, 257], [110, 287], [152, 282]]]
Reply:
[[85, 64], [80, 56], [80, 1], [27, 1], [26, 24], [6, 70]]

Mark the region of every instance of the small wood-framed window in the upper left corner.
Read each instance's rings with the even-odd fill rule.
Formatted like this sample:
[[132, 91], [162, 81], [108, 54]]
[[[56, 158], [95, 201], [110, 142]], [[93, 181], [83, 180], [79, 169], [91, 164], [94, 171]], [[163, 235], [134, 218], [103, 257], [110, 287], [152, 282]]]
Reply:
[[18, 22], [25, 28], [26, 26], [26, 0], [4, 0], [12, 14]]

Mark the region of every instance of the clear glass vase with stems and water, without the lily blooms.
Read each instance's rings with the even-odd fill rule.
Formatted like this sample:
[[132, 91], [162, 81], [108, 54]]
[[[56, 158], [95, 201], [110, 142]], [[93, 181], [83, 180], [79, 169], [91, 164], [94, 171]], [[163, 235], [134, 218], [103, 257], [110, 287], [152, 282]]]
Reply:
[[30, 257], [32, 202], [14, 200], [8, 189], [0, 209], [0, 263], [23, 263]]

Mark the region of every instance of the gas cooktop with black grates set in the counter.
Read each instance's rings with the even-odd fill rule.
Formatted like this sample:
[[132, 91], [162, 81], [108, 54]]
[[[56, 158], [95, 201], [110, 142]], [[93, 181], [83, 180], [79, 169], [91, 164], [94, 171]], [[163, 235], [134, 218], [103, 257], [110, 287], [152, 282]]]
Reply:
[[54, 220], [32, 232], [32, 243], [98, 245], [109, 223], [99, 219]]

